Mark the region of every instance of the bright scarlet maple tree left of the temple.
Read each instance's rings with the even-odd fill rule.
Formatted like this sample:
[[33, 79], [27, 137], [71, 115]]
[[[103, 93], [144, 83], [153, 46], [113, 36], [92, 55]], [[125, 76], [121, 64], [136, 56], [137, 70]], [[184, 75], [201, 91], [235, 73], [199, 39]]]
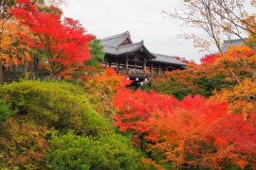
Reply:
[[40, 11], [29, 0], [17, 0], [16, 4], [16, 8], [9, 8], [10, 13], [30, 30], [29, 35], [21, 34], [23, 42], [45, 53], [51, 79], [74, 71], [90, 59], [89, 42], [94, 36], [85, 34], [78, 21], [62, 21], [62, 12], [55, 7]]

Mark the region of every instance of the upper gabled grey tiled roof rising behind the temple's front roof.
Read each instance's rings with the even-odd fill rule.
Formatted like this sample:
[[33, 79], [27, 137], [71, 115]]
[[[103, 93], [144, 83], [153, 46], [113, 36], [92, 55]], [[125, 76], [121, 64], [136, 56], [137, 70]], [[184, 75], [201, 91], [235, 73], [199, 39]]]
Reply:
[[122, 42], [124, 42], [127, 38], [132, 42], [129, 31], [126, 31], [124, 33], [121, 33], [112, 37], [101, 39], [101, 44], [104, 46], [107, 45], [107, 46], [116, 47], [116, 46], [119, 46]]

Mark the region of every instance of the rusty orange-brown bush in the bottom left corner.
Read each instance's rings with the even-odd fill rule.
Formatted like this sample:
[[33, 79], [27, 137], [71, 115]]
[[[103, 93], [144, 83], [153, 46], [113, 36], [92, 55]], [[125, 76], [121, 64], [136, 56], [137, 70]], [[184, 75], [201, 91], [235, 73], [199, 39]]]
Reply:
[[49, 131], [46, 127], [39, 127], [34, 122], [27, 121], [27, 117], [19, 116], [10, 118], [2, 126], [0, 144], [4, 155], [1, 161], [9, 169], [15, 168], [16, 164], [41, 167], [41, 163], [44, 163], [45, 152], [49, 149], [46, 140]]

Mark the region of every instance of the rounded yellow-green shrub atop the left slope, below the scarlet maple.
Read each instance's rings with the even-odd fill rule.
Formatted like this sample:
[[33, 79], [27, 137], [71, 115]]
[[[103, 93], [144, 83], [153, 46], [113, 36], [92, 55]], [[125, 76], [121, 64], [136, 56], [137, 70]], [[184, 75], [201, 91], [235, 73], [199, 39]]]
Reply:
[[17, 110], [47, 127], [61, 132], [97, 136], [111, 131], [107, 122], [92, 110], [82, 88], [65, 82], [23, 81], [6, 84], [0, 97]]

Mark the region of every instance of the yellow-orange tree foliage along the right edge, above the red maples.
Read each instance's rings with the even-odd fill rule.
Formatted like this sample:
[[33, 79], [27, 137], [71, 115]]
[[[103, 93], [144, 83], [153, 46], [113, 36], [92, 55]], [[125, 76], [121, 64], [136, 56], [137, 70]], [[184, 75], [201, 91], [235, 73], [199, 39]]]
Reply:
[[229, 46], [229, 51], [223, 56], [214, 58], [212, 67], [215, 73], [223, 73], [226, 80], [232, 81], [233, 86], [215, 92], [212, 99], [229, 102], [229, 113], [248, 114], [256, 111], [256, 84], [253, 74], [256, 70], [256, 52], [247, 46]]

